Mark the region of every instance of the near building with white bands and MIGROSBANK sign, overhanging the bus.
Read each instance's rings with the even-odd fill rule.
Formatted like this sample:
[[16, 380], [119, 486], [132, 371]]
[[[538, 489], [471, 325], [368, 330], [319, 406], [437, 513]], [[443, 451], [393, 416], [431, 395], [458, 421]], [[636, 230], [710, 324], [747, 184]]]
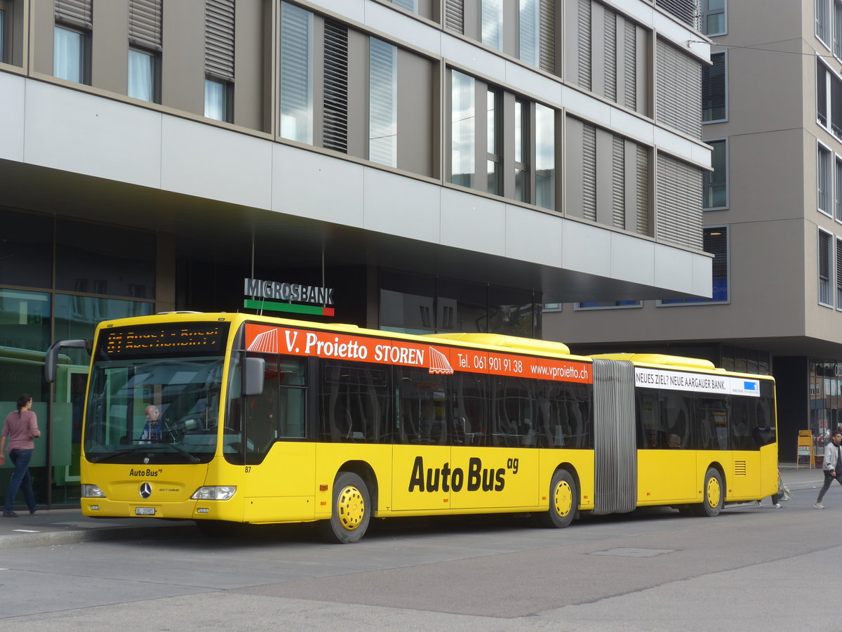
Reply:
[[77, 501], [87, 376], [45, 349], [103, 319], [318, 287], [314, 319], [540, 337], [548, 301], [706, 296], [691, 8], [0, 0], [0, 403], [35, 398], [39, 501]]

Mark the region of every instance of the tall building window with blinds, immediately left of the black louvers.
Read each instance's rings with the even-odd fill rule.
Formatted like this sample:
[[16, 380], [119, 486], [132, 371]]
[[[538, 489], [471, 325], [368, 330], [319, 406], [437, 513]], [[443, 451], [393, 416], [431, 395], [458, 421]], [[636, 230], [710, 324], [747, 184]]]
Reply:
[[280, 3], [280, 136], [313, 142], [313, 14]]

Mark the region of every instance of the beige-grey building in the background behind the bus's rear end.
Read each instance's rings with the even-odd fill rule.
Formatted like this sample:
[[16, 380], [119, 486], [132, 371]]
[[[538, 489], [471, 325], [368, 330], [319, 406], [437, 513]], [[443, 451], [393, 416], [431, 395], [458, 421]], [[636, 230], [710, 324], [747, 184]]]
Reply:
[[711, 297], [567, 304], [544, 333], [775, 375], [793, 462], [799, 431], [821, 453], [842, 423], [842, 3], [702, 0], [700, 14]]

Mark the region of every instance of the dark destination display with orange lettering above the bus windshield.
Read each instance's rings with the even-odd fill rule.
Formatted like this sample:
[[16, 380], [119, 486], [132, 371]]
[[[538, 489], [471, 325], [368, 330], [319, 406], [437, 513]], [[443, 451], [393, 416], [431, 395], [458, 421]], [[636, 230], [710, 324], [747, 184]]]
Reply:
[[227, 323], [170, 323], [104, 329], [102, 355], [121, 357], [216, 356], [225, 349]]

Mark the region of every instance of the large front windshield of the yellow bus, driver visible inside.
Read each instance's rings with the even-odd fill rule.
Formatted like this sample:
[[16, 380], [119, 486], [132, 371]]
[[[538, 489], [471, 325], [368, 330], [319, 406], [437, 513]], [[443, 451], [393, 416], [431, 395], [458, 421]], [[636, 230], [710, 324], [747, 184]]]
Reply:
[[216, 452], [222, 357], [98, 361], [84, 447], [89, 461], [206, 463]]

